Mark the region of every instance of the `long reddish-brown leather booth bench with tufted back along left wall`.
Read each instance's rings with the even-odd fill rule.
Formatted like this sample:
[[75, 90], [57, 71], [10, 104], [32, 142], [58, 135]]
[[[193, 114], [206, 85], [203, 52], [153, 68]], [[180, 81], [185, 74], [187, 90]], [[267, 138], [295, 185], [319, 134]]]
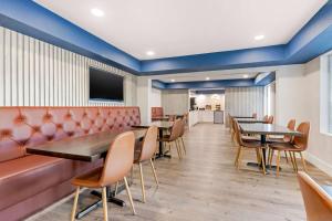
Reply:
[[138, 107], [0, 107], [0, 220], [52, 204], [74, 190], [74, 176], [102, 164], [27, 155], [27, 147], [139, 124]]

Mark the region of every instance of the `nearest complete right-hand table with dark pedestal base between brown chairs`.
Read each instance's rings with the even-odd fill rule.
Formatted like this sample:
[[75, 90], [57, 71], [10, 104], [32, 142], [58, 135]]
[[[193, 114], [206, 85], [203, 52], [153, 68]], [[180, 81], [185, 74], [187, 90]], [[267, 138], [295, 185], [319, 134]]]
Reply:
[[[273, 125], [273, 124], [240, 124], [240, 129], [242, 134], [260, 135], [261, 146], [266, 146], [267, 135], [289, 135], [289, 136], [301, 136], [302, 134], [295, 130], [291, 130], [284, 126]], [[263, 148], [263, 159], [266, 164], [266, 169], [276, 169], [276, 166], [267, 165], [266, 148]], [[248, 162], [248, 166], [261, 167], [262, 165], [256, 162]]]

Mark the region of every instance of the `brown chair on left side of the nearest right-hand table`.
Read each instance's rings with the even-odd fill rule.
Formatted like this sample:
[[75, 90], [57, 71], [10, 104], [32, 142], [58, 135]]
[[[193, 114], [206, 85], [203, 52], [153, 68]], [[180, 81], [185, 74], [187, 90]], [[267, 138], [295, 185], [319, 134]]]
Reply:
[[240, 162], [241, 162], [241, 154], [242, 150], [245, 149], [255, 149], [256, 155], [257, 155], [257, 162], [262, 165], [262, 172], [266, 175], [266, 164], [263, 159], [263, 151], [262, 151], [262, 146], [260, 141], [243, 141], [240, 135], [240, 128], [239, 124], [235, 120], [235, 136], [236, 136], [236, 141], [239, 145], [239, 149], [236, 156], [235, 165], [237, 169], [240, 168]]

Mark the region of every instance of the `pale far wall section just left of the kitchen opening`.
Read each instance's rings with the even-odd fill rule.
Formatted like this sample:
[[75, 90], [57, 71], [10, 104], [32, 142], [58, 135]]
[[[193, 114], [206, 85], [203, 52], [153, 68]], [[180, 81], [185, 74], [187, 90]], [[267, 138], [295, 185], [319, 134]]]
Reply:
[[184, 114], [189, 110], [188, 90], [163, 90], [164, 114]]

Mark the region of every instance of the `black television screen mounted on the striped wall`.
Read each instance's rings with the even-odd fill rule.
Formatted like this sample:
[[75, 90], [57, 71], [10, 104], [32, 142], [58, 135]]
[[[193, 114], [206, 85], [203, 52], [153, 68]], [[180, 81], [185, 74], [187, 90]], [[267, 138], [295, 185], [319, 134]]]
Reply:
[[123, 102], [123, 76], [90, 67], [90, 99]]

